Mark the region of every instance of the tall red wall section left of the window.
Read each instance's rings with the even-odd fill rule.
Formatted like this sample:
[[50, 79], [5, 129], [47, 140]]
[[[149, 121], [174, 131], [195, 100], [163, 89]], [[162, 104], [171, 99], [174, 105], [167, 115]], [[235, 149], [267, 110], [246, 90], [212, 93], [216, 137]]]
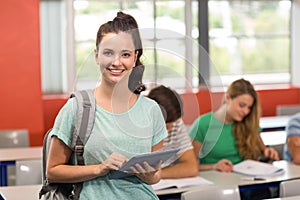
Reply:
[[1, 1], [0, 7], [0, 129], [28, 129], [31, 145], [40, 144], [44, 130], [39, 1]]

